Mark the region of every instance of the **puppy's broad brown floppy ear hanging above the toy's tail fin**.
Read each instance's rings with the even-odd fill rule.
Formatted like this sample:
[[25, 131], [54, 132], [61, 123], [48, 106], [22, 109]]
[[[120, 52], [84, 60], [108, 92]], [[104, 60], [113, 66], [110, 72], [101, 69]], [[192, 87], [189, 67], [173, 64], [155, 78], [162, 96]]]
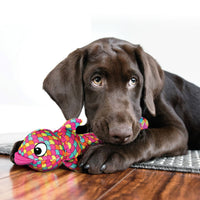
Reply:
[[61, 108], [66, 119], [78, 117], [84, 101], [84, 55], [77, 49], [59, 63], [45, 78], [44, 90]]

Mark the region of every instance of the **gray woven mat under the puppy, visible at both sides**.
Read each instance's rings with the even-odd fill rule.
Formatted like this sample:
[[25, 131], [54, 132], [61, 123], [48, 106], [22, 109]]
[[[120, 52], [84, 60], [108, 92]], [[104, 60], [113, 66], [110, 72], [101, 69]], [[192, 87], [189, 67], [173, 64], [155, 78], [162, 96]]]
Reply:
[[[13, 144], [0, 144], [0, 154], [9, 155]], [[188, 151], [184, 156], [162, 157], [133, 164], [133, 168], [200, 173], [200, 151]]]

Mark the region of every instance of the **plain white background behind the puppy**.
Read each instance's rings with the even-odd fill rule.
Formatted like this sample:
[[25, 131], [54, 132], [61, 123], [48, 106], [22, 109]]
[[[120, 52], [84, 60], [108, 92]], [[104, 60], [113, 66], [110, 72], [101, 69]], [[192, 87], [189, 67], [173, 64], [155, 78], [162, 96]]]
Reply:
[[101, 37], [141, 44], [164, 70], [200, 86], [198, 2], [0, 0], [0, 141], [65, 122], [43, 79], [71, 51]]

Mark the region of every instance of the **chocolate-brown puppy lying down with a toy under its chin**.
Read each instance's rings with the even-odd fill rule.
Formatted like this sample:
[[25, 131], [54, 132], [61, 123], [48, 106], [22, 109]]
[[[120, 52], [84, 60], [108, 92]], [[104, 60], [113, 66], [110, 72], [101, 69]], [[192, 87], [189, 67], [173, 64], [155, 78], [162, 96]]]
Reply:
[[[200, 148], [199, 87], [163, 71], [139, 45], [94, 41], [58, 64], [43, 86], [66, 119], [85, 106], [88, 122], [78, 131], [93, 131], [104, 141], [81, 158], [88, 173], [113, 173]], [[147, 130], [140, 130], [141, 116], [149, 121]]]

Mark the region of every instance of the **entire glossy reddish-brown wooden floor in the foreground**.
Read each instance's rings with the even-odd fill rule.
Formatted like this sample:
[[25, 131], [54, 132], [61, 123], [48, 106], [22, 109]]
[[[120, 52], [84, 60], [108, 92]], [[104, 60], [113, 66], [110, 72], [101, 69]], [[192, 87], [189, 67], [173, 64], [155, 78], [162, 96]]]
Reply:
[[200, 199], [200, 175], [127, 169], [88, 175], [57, 169], [35, 172], [0, 156], [0, 199]]

